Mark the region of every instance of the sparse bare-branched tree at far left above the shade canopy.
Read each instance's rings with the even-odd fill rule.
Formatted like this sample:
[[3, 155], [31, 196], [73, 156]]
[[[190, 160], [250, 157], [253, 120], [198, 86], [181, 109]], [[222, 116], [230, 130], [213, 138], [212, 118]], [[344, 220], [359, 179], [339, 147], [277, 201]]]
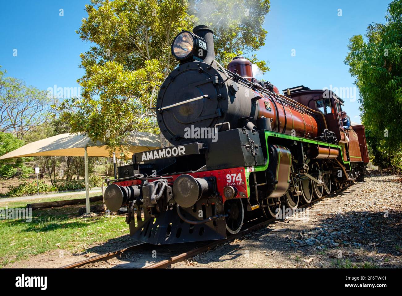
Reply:
[[27, 132], [48, 120], [51, 98], [45, 91], [5, 74], [0, 66], [0, 132], [12, 132], [23, 139]]

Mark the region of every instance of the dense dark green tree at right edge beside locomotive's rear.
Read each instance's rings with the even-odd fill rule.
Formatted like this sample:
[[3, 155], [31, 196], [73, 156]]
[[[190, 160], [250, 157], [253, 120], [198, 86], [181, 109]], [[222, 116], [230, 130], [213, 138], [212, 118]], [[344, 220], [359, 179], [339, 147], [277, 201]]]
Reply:
[[349, 39], [345, 59], [356, 77], [367, 142], [378, 160], [381, 153], [400, 150], [402, 143], [402, 0], [388, 5], [385, 20], [369, 25], [365, 38]]

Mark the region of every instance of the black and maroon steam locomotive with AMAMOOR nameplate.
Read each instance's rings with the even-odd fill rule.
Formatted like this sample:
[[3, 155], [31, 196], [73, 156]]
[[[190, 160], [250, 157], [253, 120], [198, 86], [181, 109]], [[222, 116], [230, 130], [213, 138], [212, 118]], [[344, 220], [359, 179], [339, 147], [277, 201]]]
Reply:
[[235, 57], [215, 60], [213, 32], [182, 31], [180, 61], [160, 87], [157, 121], [170, 146], [135, 153], [108, 180], [105, 204], [127, 206], [130, 235], [152, 244], [226, 238], [250, 213], [273, 217], [364, 178], [364, 126], [344, 128], [344, 101], [299, 86], [279, 93]]

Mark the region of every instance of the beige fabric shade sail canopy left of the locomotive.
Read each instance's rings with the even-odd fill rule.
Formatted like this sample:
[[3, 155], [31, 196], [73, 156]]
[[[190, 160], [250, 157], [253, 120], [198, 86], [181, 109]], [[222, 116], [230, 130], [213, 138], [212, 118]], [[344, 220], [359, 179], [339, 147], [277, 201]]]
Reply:
[[[133, 153], [160, 147], [158, 135], [149, 132], [136, 132], [131, 139], [122, 144], [129, 151], [125, 154], [126, 159], [131, 158]], [[88, 156], [111, 156], [111, 151], [105, 143], [99, 141], [94, 143], [86, 135], [68, 133], [29, 143], [2, 155], [0, 159], [28, 156], [84, 156], [85, 148]], [[112, 152], [116, 153], [117, 158], [121, 157], [121, 150]]]

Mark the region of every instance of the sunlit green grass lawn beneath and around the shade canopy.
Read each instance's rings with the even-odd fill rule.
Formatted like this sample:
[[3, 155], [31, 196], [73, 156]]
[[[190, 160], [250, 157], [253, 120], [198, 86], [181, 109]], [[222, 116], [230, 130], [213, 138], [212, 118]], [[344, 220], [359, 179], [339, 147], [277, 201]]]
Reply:
[[[92, 193], [91, 196], [99, 195]], [[84, 198], [85, 195], [70, 195], [35, 201], [3, 203], [0, 207], [25, 207], [27, 203]], [[100, 204], [101, 202], [91, 203]], [[27, 259], [29, 256], [49, 250], [63, 249], [73, 253], [128, 234], [125, 216], [99, 214], [95, 217], [81, 218], [74, 205], [32, 212], [32, 221], [22, 219], [0, 220], [0, 267]]]

